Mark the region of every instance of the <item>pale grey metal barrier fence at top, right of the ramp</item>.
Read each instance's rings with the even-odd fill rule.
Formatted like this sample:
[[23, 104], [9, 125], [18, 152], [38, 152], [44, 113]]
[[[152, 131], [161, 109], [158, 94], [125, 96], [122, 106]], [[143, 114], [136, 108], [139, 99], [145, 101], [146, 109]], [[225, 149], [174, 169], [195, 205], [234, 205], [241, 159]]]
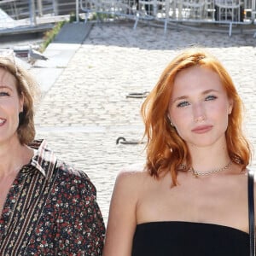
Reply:
[[[170, 22], [215, 23], [229, 26], [254, 24], [255, 0], [77, 0], [79, 12], [117, 15], [135, 20], [160, 20], [166, 32]], [[86, 22], [87, 18], [85, 19]]]

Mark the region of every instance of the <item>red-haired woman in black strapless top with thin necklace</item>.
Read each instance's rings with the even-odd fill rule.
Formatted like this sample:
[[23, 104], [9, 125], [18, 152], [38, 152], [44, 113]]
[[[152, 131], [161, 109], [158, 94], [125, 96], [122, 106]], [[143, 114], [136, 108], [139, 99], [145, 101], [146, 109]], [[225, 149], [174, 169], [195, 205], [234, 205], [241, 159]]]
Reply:
[[117, 177], [103, 255], [248, 255], [251, 150], [229, 73], [204, 49], [187, 49], [142, 115], [146, 166]]

